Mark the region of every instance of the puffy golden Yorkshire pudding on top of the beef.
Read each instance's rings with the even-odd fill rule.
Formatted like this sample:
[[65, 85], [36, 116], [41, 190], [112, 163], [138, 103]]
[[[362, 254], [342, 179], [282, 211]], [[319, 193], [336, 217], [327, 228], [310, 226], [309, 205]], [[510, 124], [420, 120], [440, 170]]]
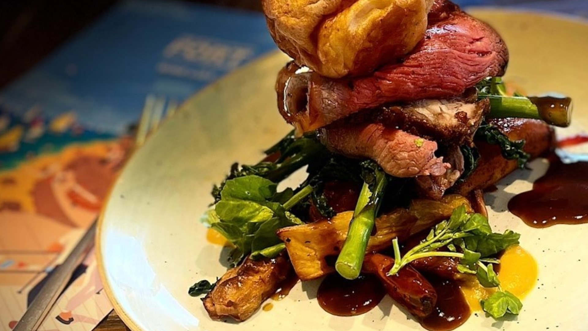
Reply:
[[262, 0], [270, 34], [320, 75], [363, 75], [410, 52], [433, 0]]

